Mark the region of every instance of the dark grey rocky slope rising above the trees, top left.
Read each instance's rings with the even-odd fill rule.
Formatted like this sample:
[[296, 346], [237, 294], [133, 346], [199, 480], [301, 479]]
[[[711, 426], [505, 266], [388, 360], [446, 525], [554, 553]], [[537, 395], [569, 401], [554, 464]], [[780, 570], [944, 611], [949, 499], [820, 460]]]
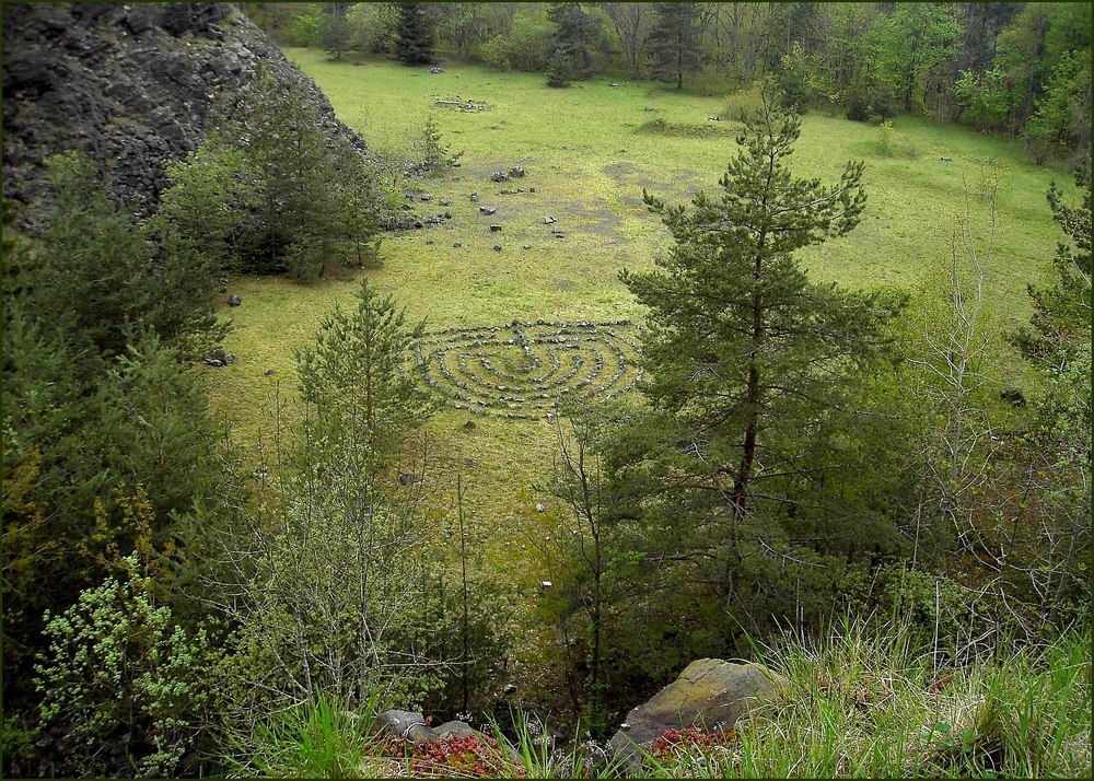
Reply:
[[329, 102], [231, 3], [3, 3], [4, 198], [43, 191], [43, 160], [79, 149], [102, 163], [138, 213], [155, 208], [163, 162], [197, 148], [213, 106], [259, 61], [303, 83], [316, 123], [363, 150]]

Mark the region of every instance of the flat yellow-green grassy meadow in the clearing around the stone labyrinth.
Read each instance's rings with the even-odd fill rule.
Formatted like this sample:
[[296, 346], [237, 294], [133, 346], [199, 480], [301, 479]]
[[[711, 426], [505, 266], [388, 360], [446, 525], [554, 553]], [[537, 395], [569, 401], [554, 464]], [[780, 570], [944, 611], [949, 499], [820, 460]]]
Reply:
[[[421, 214], [451, 211], [452, 219], [385, 237], [384, 267], [366, 272], [382, 293], [406, 306], [409, 319], [427, 318], [429, 329], [513, 319], [640, 320], [642, 311], [617, 275], [622, 268], [650, 268], [668, 243], [666, 230], [642, 203], [642, 189], [674, 201], [712, 190], [735, 150], [735, 123], [708, 119], [725, 113], [724, 97], [601, 79], [550, 90], [538, 74], [469, 66], [432, 74], [383, 60], [331, 62], [313, 49], [287, 54], [371, 147], [399, 152], [432, 115], [444, 141], [463, 152], [458, 168], [414, 185], [432, 194], [430, 202], [417, 205]], [[489, 107], [464, 112], [434, 105], [437, 100], [474, 100]], [[871, 125], [823, 113], [804, 117], [792, 159], [796, 174], [834, 180], [846, 161], [864, 160], [869, 197], [858, 229], [805, 256], [810, 271], [851, 287], [915, 291], [948, 255], [954, 215], [964, 211], [963, 182], [975, 196], [991, 160], [1005, 173], [987, 290], [1003, 325], [1022, 323], [1029, 314], [1026, 284], [1048, 278], [1060, 237], [1045, 193], [1054, 176], [1068, 177], [1034, 166], [1005, 140], [913, 117], [898, 117], [894, 126], [892, 150], [883, 154]], [[493, 172], [512, 166], [524, 167], [526, 176], [491, 182]], [[533, 187], [535, 193], [527, 191]], [[501, 195], [503, 188], [526, 191]], [[439, 205], [446, 199], [451, 207]], [[484, 215], [480, 206], [497, 212]], [[973, 214], [986, 233], [984, 205], [975, 197]], [[546, 217], [557, 223], [544, 224]], [[492, 233], [490, 223], [501, 232]], [[555, 237], [551, 229], [565, 237]], [[359, 277], [307, 287], [282, 279], [232, 280], [230, 292], [240, 294], [243, 305], [224, 308], [234, 323], [225, 347], [236, 363], [208, 372], [214, 409], [247, 452], [269, 421], [277, 386], [291, 395], [293, 350], [313, 338], [335, 304], [351, 306], [358, 287]], [[1015, 375], [1013, 382], [1021, 369], [1014, 360], [1003, 371]], [[554, 511], [535, 485], [549, 475], [554, 428], [542, 419], [479, 416], [473, 429], [464, 428], [470, 418], [442, 409], [427, 426], [426, 488], [441, 513], [451, 509], [462, 475], [469, 544], [482, 571], [533, 594], [534, 584], [547, 578], [535, 540], [549, 533]], [[548, 512], [536, 512], [537, 502], [547, 503]], [[447, 512], [439, 524], [454, 526], [455, 514]], [[520, 637], [519, 656], [528, 658], [537, 631], [524, 627]]]

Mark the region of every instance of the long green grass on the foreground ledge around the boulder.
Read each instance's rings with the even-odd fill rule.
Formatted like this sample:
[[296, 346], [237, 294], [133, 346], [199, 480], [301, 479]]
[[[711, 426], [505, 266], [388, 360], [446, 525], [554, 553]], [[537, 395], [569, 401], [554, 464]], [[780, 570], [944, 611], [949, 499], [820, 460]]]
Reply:
[[[756, 708], [728, 739], [650, 753], [636, 776], [1090, 778], [1090, 641], [1072, 631], [1045, 649], [1000, 643], [993, 658], [939, 667], [931, 644], [899, 622], [846, 619], [822, 637], [787, 633], [759, 652], [785, 679], [780, 701]], [[368, 734], [374, 715], [322, 700], [275, 714], [232, 765], [269, 778], [412, 774]], [[535, 715], [514, 715], [512, 758], [494, 754], [490, 777], [624, 777], [603, 749], [582, 739], [556, 749]], [[490, 732], [505, 739], [497, 725]]]

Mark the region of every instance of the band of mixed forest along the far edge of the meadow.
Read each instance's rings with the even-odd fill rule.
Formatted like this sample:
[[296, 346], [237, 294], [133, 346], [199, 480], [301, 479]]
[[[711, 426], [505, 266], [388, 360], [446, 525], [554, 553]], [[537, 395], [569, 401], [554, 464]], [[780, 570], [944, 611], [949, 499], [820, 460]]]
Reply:
[[[801, 108], [917, 113], [1024, 141], [1038, 163], [1090, 155], [1086, 3], [248, 3], [279, 44], [334, 58], [420, 51], [562, 86], [613, 74], [725, 94], [773, 75]], [[426, 57], [426, 59], [429, 58]], [[422, 59], [421, 61], [426, 61]]]

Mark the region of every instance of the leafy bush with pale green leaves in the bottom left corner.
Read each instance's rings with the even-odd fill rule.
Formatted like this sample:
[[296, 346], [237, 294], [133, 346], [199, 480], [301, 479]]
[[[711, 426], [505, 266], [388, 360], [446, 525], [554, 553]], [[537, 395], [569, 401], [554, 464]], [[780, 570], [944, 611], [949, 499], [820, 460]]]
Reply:
[[[123, 572], [48, 617], [35, 666], [53, 770], [79, 776], [173, 776], [205, 726], [214, 652], [156, 607], [138, 555]], [[40, 743], [39, 743], [40, 745]]]

